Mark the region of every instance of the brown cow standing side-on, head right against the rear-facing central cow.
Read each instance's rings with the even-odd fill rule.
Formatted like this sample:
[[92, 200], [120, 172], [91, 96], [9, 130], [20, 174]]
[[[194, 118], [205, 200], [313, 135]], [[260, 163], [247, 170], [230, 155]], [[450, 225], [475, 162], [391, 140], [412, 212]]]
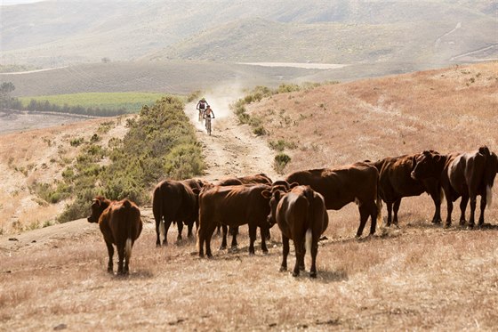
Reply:
[[212, 257], [211, 237], [216, 226], [221, 223], [232, 227], [249, 225], [249, 255], [254, 255], [254, 241], [257, 228], [261, 229], [261, 250], [268, 253], [266, 237], [269, 233], [267, 217], [269, 215], [269, 198], [261, 192], [271, 187], [266, 184], [212, 186], [201, 190], [199, 194], [199, 231], [197, 247], [199, 256]]

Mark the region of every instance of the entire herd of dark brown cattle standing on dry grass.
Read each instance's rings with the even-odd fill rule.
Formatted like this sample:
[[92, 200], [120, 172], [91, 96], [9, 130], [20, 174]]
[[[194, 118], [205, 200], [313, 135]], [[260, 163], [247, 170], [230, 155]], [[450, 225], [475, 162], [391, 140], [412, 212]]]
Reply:
[[[311, 254], [310, 277], [317, 276], [318, 239], [326, 230], [326, 210], [339, 210], [355, 202], [360, 223], [357, 237], [362, 235], [368, 218], [370, 234], [374, 234], [377, 219], [382, 220], [382, 200], [388, 209], [387, 226], [398, 224], [401, 198], [430, 194], [435, 213], [432, 223], [441, 223], [441, 200], [446, 196], [445, 226], [451, 224], [453, 202], [462, 198], [460, 224], [464, 225], [465, 210], [470, 200], [468, 227], [475, 225], [477, 196], [481, 196], [478, 225], [484, 223], [486, 205], [491, 204], [498, 158], [486, 146], [468, 153], [440, 154], [434, 150], [384, 158], [376, 162], [365, 160], [349, 166], [313, 169], [288, 174], [285, 180], [272, 182], [265, 174], [233, 177], [216, 183], [190, 179], [166, 180], [157, 184], [153, 193], [153, 214], [157, 241], [167, 244], [167, 231], [172, 223], [178, 226], [181, 239], [183, 225], [192, 236], [197, 225], [197, 247], [202, 257], [211, 257], [211, 238], [222, 229], [221, 248], [227, 247], [228, 228], [232, 246], [237, 246], [238, 226], [249, 226], [249, 254], [254, 254], [258, 227], [261, 250], [268, 252], [266, 240], [275, 224], [282, 234], [283, 259], [281, 271], [287, 269], [289, 239], [293, 240], [296, 262], [293, 275], [304, 270], [304, 255]], [[394, 217], [392, 212], [394, 210]], [[113, 244], [119, 257], [118, 274], [126, 274], [134, 241], [141, 234], [139, 208], [128, 199], [110, 201], [97, 197], [92, 201], [90, 223], [99, 223], [108, 247], [108, 271], [113, 271]]]

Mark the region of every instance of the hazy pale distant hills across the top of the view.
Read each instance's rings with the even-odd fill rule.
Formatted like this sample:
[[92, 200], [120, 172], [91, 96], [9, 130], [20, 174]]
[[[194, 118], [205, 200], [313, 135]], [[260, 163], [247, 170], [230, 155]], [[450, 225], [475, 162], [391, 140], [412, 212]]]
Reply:
[[173, 58], [441, 66], [495, 58], [494, 13], [492, 0], [52, 0], [2, 6], [2, 64]]

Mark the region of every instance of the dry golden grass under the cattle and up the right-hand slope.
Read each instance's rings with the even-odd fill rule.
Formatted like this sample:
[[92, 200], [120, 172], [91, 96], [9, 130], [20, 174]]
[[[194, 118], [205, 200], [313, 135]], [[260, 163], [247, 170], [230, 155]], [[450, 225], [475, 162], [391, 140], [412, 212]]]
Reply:
[[[265, 118], [269, 141], [295, 142], [285, 150], [293, 158], [286, 173], [424, 149], [486, 143], [496, 151], [496, 91], [498, 63], [491, 62], [275, 95], [249, 112]], [[381, 226], [359, 240], [357, 206], [329, 211], [317, 279], [278, 271], [277, 226], [269, 255], [259, 246], [247, 255], [242, 227], [237, 252], [200, 259], [195, 240], [175, 244], [173, 227], [170, 246], [156, 248], [150, 208], [141, 209], [145, 228], [127, 278], [106, 272], [100, 231], [85, 220], [15, 235], [19, 241], [0, 238], [0, 329], [478, 331], [498, 324], [496, 205], [486, 209], [482, 229], [454, 223], [445, 230], [430, 223], [429, 196], [404, 198], [399, 228]], [[21, 246], [27, 239], [37, 241]], [[220, 243], [215, 237], [213, 249]]]

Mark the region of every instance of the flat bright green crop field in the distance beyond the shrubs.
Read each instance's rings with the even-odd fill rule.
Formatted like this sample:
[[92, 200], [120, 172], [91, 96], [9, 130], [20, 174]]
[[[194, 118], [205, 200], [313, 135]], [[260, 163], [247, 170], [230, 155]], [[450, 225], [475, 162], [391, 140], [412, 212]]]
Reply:
[[152, 105], [165, 93], [68, 93], [41, 96], [20, 97], [23, 106], [32, 100], [48, 101], [60, 107], [82, 106], [84, 108], [126, 109], [128, 112], [139, 111], [143, 105]]

